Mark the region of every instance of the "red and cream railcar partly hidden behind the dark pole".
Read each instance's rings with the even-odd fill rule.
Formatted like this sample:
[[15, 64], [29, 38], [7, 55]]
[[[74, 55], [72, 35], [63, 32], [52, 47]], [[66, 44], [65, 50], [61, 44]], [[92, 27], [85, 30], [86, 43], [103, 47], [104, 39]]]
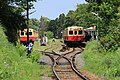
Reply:
[[[29, 28], [29, 40], [38, 40], [38, 31]], [[20, 31], [20, 43], [27, 42], [27, 29]]]

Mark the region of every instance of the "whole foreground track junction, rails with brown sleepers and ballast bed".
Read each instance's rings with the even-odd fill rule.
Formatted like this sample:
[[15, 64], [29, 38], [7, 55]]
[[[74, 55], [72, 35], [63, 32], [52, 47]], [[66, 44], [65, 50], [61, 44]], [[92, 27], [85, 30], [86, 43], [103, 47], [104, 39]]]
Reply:
[[65, 52], [45, 52], [52, 61], [52, 71], [57, 80], [89, 80], [85, 75], [76, 69], [75, 57], [83, 50], [81, 48], [70, 48]]

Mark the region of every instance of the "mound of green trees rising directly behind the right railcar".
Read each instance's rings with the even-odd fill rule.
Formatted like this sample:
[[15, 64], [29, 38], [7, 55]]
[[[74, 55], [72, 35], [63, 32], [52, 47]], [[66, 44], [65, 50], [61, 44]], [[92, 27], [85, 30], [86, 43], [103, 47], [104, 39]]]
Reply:
[[78, 4], [75, 11], [70, 10], [65, 18], [64, 26], [91, 27], [97, 25], [96, 16], [89, 11], [89, 4]]

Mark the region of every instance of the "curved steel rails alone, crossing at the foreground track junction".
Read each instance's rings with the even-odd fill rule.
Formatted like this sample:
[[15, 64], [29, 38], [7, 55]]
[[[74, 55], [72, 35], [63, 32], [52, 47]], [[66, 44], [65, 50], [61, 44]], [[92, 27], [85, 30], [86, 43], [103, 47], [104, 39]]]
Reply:
[[[79, 71], [76, 69], [76, 66], [75, 66], [75, 64], [74, 64], [75, 56], [76, 56], [77, 54], [80, 54], [82, 51], [81, 51], [81, 52], [77, 52], [75, 55], [73, 55], [73, 56], [71, 57], [71, 59], [66, 58], [65, 55], [74, 52], [74, 49], [73, 49], [73, 51], [68, 52], [68, 53], [65, 53], [65, 54], [62, 54], [62, 55], [57, 54], [57, 53], [54, 52], [54, 51], [52, 51], [52, 52], [41, 51], [41, 52], [42, 52], [42, 53], [45, 53], [45, 55], [49, 56], [49, 57], [52, 59], [52, 62], [53, 62], [52, 71], [53, 71], [53, 74], [55, 75], [55, 77], [56, 77], [57, 80], [61, 80], [60, 77], [58, 76], [57, 72], [55, 71], [55, 67], [57, 66], [57, 62], [58, 62], [58, 60], [59, 60], [60, 58], [66, 59], [66, 60], [70, 63], [72, 70], [73, 70], [78, 76], [80, 76], [80, 78], [82, 78], [83, 80], [89, 80], [86, 76], [84, 76], [81, 72], [79, 72]], [[59, 57], [58, 57], [57, 59], [54, 59], [54, 58], [52, 57], [52, 55], [50, 55], [50, 54], [54, 54], [54, 55], [57, 55], [57, 56], [59, 56]]]

